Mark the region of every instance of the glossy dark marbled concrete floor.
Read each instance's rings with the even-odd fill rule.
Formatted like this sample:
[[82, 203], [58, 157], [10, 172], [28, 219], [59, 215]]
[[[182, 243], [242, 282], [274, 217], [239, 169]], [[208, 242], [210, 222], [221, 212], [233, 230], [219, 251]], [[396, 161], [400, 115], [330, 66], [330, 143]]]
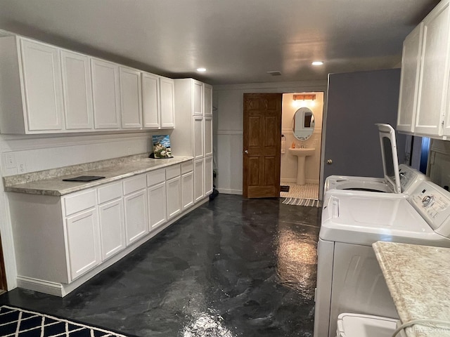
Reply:
[[320, 209], [229, 194], [200, 206], [65, 298], [0, 303], [136, 336], [312, 336]]

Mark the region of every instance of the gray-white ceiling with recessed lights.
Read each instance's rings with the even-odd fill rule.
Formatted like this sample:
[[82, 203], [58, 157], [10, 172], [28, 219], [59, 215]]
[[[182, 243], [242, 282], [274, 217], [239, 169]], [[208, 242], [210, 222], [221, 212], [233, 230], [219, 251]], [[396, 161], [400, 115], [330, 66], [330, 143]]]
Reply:
[[213, 85], [324, 80], [399, 67], [404, 38], [438, 2], [0, 0], [0, 29]]

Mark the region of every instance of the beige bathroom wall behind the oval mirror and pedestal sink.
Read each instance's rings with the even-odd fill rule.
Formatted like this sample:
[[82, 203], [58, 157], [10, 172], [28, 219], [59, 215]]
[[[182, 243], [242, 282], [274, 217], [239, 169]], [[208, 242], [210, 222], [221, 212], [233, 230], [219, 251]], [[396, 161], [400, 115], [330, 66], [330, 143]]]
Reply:
[[314, 133], [307, 140], [297, 140], [293, 133], [293, 117], [299, 107], [293, 106], [293, 93], [283, 95], [283, 115], [281, 118], [281, 133], [286, 138], [286, 150], [281, 154], [281, 180], [295, 183], [297, 181], [297, 157], [290, 154], [288, 148], [295, 145], [314, 148], [315, 153], [308, 156], [305, 161], [304, 178], [306, 183], [319, 184], [319, 173], [321, 167], [321, 138], [322, 138], [322, 117], [323, 117], [323, 93], [306, 93], [316, 95], [314, 106], [311, 101], [307, 102], [307, 107], [314, 114]]

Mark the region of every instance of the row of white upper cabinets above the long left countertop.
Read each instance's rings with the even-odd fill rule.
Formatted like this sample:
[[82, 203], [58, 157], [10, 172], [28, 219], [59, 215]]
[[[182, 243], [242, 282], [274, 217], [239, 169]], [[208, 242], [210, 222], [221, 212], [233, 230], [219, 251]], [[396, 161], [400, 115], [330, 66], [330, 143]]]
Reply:
[[174, 81], [23, 37], [0, 38], [0, 132], [174, 128]]

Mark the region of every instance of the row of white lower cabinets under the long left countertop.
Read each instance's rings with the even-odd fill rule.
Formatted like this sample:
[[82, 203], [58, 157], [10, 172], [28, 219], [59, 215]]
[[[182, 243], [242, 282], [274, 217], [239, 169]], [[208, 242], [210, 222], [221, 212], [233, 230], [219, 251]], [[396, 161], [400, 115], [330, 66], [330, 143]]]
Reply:
[[209, 168], [203, 158], [184, 161], [62, 197], [9, 193], [18, 286], [70, 293], [191, 208], [194, 191], [204, 199], [205, 162]]

